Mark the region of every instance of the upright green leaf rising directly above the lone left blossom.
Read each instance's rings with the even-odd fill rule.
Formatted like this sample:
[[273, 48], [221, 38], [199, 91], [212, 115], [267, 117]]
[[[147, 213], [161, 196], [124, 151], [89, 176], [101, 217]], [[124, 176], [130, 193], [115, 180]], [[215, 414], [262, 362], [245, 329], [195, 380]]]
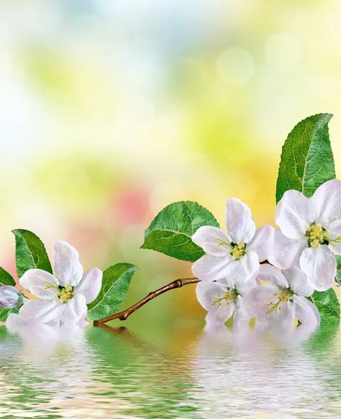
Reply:
[[38, 236], [29, 230], [12, 230], [15, 235], [15, 261], [18, 277], [29, 269], [41, 269], [52, 274], [52, 267], [45, 246]]

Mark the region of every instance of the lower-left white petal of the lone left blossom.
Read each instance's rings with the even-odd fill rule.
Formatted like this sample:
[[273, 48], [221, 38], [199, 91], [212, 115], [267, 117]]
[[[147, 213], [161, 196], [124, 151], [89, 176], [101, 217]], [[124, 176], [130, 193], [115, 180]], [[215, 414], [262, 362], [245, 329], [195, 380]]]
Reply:
[[59, 318], [61, 302], [54, 300], [29, 300], [19, 311], [20, 316], [27, 323], [47, 323]]

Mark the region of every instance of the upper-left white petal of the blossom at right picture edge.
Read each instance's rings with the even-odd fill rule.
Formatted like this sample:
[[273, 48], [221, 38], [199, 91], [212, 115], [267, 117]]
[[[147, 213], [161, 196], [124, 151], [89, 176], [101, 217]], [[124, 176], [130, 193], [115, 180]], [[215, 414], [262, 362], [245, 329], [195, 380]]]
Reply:
[[277, 205], [275, 222], [289, 239], [298, 240], [310, 230], [315, 221], [315, 206], [312, 200], [299, 191], [286, 191]]

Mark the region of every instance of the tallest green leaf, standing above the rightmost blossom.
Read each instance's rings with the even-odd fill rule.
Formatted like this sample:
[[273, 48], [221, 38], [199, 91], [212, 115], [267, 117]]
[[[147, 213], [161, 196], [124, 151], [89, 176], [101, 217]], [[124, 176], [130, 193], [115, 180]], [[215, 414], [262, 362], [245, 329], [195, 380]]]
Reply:
[[289, 189], [310, 198], [327, 180], [335, 179], [328, 122], [333, 115], [318, 114], [298, 122], [282, 148], [276, 202]]

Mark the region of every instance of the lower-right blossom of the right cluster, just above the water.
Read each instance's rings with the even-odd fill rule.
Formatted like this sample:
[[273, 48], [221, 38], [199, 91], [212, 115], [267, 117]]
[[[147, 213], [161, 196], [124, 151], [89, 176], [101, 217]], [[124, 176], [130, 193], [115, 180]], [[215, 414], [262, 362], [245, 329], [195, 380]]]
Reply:
[[305, 329], [313, 330], [319, 325], [317, 307], [305, 298], [312, 295], [314, 289], [298, 267], [280, 272], [272, 265], [262, 265], [257, 278], [271, 282], [252, 288], [244, 295], [243, 307], [250, 317], [257, 317], [257, 325], [290, 330], [295, 317]]

